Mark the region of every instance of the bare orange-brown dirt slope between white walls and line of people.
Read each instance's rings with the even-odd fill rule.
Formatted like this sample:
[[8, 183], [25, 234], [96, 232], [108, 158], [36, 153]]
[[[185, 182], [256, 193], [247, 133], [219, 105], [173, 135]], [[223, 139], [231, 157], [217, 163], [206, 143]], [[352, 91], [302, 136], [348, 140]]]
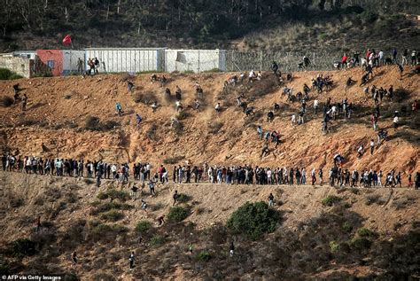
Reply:
[[[23, 93], [27, 93], [27, 112], [21, 113], [19, 105], [0, 107], [2, 118], [1, 145], [22, 155], [41, 157], [105, 159], [107, 161], [150, 161], [159, 165], [164, 160], [178, 162], [190, 160], [193, 164], [209, 162], [226, 165], [296, 166], [329, 168], [333, 155], [340, 153], [346, 158], [346, 168], [375, 168], [384, 171], [393, 168], [405, 173], [419, 169], [418, 112], [410, 114], [410, 102], [420, 97], [419, 76], [407, 73], [400, 79], [395, 66], [376, 69], [375, 77], [368, 85], [387, 89], [393, 85], [396, 98], [393, 103], [387, 98], [382, 102], [378, 125], [388, 129], [390, 137], [377, 147], [374, 155], [366, 153], [361, 160], [356, 157], [358, 145], [369, 147], [370, 138], [376, 139], [371, 128], [370, 113], [374, 102], [359, 87], [362, 69], [337, 72], [299, 72], [293, 74], [292, 82], [285, 85], [293, 93], [302, 91], [304, 83], [310, 85], [317, 74], [331, 75], [334, 87], [318, 94], [311, 90], [307, 105], [307, 121], [292, 126], [292, 113], [299, 112], [299, 103], [290, 103], [282, 97], [284, 86], [276, 86], [272, 75], [267, 74], [261, 82], [239, 84], [228, 93], [223, 93], [223, 82], [231, 74], [166, 74], [165, 87], [175, 93], [175, 85], [183, 90], [183, 131], [170, 128], [170, 118], [178, 116], [175, 101], [164, 98], [159, 83], [151, 83], [150, 74], [133, 77], [133, 93], [127, 90], [127, 74], [97, 75], [93, 77], [57, 77], [19, 80]], [[352, 77], [356, 84], [346, 87], [346, 78]], [[194, 82], [204, 89], [205, 100], [201, 110], [191, 108], [195, 98]], [[12, 97], [12, 84], [0, 82], [0, 95]], [[237, 95], [244, 94], [248, 106], [254, 106], [256, 114], [245, 117], [236, 105]], [[354, 105], [350, 120], [342, 117], [332, 121], [330, 133], [322, 134], [322, 113], [314, 114], [313, 100], [318, 98], [321, 108], [327, 98], [336, 103], [344, 98]], [[397, 100], [400, 99], [400, 102]], [[137, 103], [136, 103], [136, 101]], [[152, 100], [159, 108], [152, 113]], [[214, 105], [220, 101], [224, 110], [217, 114]], [[120, 102], [124, 111], [116, 115], [114, 105]], [[266, 121], [268, 110], [274, 103], [280, 104], [280, 113], [273, 122]], [[401, 112], [401, 128], [392, 129], [392, 113]], [[135, 113], [144, 117], [140, 129], [136, 129]], [[91, 131], [84, 129], [88, 116], [101, 122], [115, 121], [115, 129]], [[260, 159], [263, 142], [258, 138], [256, 126], [264, 130], [275, 129], [282, 143], [269, 155]], [[172, 161], [174, 162], [174, 161]], [[176, 160], [175, 160], [176, 162]]]

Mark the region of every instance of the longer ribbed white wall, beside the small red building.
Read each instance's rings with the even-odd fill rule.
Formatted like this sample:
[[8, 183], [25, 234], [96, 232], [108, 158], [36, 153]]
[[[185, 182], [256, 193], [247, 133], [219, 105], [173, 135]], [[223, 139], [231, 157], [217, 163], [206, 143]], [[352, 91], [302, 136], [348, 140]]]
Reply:
[[[164, 49], [146, 48], [89, 48], [85, 49], [85, 62], [97, 58], [100, 62], [99, 72], [137, 73], [144, 71], [164, 70]], [[104, 69], [105, 64], [105, 69]], [[89, 68], [89, 67], [88, 67]]]

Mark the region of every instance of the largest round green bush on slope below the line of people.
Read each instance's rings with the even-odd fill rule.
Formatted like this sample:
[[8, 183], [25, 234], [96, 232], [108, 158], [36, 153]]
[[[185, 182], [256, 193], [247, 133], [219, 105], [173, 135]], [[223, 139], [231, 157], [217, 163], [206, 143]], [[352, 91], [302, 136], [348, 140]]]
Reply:
[[276, 230], [279, 214], [269, 208], [265, 202], [246, 202], [229, 218], [226, 226], [236, 234], [245, 234], [247, 238], [257, 240], [264, 233]]

